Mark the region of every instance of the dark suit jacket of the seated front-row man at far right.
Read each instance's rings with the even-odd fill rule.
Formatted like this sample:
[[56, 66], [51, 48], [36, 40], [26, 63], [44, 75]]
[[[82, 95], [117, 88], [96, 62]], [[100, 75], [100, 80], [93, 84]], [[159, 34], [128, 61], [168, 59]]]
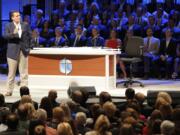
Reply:
[[174, 38], [171, 38], [168, 47], [166, 47], [166, 39], [163, 39], [161, 41], [159, 54], [175, 57], [176, 56], [176, 40]]

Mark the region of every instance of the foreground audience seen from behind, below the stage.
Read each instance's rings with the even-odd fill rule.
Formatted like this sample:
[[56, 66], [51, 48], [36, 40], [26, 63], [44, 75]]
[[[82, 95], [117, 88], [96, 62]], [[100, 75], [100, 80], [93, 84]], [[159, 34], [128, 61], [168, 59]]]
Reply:
[[88, 93], [72, 92], [71, 100], [57, 102], [50, 90], [40, 105], [32, 100], [27, 87], [20, 88], [20, 100], [6, 105], [0, 94], [1, 135], [179, 135], [180, 108], [166, 92], [159, 92], [152, 106], [145, 95], [128, 88], [125, 102], [115, 104], [102, 91], [97, 102], [87, 104]]

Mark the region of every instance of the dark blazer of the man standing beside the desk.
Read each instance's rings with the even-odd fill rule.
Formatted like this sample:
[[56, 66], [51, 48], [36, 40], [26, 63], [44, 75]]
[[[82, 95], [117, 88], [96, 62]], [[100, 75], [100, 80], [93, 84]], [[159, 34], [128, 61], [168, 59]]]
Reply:
[[17, 60], [20, 50], [24, 56], [28, 56], [31, 46], [31, 30], [28, 24], [20, 23], [22, 29], [21, 38], [18, 34], [14, 34], [15, 25], [10, 22], [5, 27], [4, 37], [8, 40], [7, 57]]

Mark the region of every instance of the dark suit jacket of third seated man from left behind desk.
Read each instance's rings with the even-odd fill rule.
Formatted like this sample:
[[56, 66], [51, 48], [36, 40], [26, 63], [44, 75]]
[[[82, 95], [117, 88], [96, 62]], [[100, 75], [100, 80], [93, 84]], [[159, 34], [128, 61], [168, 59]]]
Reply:
[[[70, 45], [74, 46], [74, 42], [76, 40], [76, 35], [71, 35], [70, 37]], [[74, 47], [82, 47], [86, 46], [87, 38], [85, 36], [81, 36], [79, 41], [76, 41], [76, 45]]]

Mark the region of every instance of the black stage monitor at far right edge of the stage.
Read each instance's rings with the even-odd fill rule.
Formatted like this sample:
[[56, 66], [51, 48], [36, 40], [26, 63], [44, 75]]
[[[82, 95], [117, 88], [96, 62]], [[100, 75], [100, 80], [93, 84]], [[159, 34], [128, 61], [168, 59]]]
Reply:
[[172, 98], [172, 104], [173, 105], [177, 105], [180, 104], [180, 91], [179, 90], [148, 90], [147, 92], [147, 103], [151, 106], [154, 106], [155, 102], [156, 102], [156, 98], [157, 98], [157, 94], [159, 92], [167, 92], [171, 98]]

